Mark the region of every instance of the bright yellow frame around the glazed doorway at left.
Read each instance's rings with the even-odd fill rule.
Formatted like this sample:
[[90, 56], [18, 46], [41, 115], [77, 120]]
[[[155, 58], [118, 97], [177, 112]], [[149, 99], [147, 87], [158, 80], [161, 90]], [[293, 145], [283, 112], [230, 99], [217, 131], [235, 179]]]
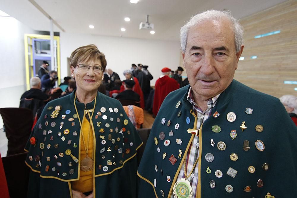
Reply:
[[[30, 43], [28, 44], [28, 38], [30, 38]], [[33, 51], [32, 51], [32, 39], [46, 39], [50, 40], [49, 35], [42, 35], [42, 34], [24, 34], [25, 40], [25, 65], [26, 65], [26, 85], [27, 90], [30, 89], [30, 66], [33, 66]], [[61, 63], [60, 63], [60, 37], [54, 36], [54, 40], [57, 42], [57, 73], [58, 73], [58, 84], [61, 83]], [[28, 57], [28, 46], [31, 45], [30, 49], [30, 56], [31, 61], [29, 65], [29, 57]], [[34, 75], [33, 69], [31, 69], [31, 76]]]

